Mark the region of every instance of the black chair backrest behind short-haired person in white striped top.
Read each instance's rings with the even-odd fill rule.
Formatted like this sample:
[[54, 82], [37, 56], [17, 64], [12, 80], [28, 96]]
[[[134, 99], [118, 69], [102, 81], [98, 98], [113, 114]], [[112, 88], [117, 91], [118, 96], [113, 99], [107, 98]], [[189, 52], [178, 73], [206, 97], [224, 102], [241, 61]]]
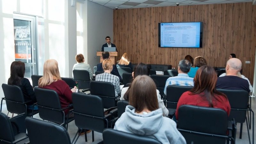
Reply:
[[73, 70], [74, 80], [78, 83], [79, 89], [90, 88], [90, 74], [87, 70]]

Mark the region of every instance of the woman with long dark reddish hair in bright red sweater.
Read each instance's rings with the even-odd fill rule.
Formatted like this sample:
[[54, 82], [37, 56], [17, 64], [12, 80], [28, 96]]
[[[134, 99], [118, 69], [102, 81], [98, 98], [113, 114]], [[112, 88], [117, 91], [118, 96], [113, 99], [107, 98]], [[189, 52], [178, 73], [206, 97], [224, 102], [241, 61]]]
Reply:
[[225, 94], [216, 90], [217, 75], [210, 66], [200, 67], [194, 78], [194, 88], [184, 92], [177, 104], [175, 112], [179, 119], [179, 107], [184, 104], [220, 108], [230, 113], [230, 104]]

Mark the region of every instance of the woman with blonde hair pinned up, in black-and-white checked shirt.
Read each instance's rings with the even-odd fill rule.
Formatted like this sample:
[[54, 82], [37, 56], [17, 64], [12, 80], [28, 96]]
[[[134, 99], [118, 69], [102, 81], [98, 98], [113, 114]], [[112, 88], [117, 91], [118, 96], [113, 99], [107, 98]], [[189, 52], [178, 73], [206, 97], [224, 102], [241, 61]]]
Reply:
[[96, 75], [95, 81], [112, 83], [115, 87], [115, 96], [117, 97], [120, 94], [121, 90], [119, 77], [110, 74], [113, 70], [113, 62], [110, 59], [105, 59], [102, 62], [102, 68], [104, 69], [104, 73]]

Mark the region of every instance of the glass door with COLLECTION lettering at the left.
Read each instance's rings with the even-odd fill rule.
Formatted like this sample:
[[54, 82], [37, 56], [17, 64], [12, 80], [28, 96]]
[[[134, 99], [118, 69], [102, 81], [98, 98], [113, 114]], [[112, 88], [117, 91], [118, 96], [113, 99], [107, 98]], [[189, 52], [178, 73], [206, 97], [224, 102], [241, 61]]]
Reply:
[[25, 63], [24, 77], [29, 80], [31, 75], [37, 74], [35, 19], [34, 16], [13, 14], [15, 61]]

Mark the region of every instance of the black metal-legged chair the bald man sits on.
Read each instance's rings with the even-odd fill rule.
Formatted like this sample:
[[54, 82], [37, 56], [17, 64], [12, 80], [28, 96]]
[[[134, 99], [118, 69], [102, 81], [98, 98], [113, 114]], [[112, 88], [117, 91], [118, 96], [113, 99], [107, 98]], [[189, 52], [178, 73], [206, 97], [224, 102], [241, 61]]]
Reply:
[[218, 91], [224, 93], [228, 97], [229, 104], [231, 106], [231, 111], [228, 119], [235, 118], [236, 122], [241, 123], [240, 125], [240, 135], [239, 138], [242, 138], [243, 123], [246, 122], [247, 133], [249, 138], [249, 143], [251, 144], [249, 127], [246, 117], [246, 112], [250, 111], [252, 113], [252, 143], [254, 144], [254, 112], [249, 102], [249, 93], [245, 90], [225, 90], [217, 89]]

